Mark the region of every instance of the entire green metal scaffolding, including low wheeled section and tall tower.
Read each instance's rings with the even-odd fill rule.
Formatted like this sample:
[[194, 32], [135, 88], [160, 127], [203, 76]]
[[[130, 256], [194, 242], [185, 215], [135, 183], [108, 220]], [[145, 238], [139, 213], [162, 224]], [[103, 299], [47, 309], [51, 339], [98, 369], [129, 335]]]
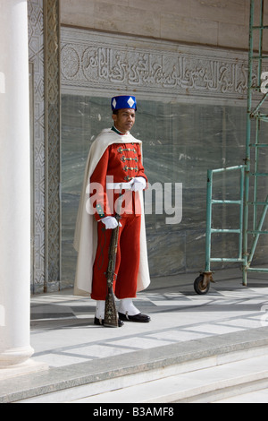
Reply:
[[[206, 294], [213, 282], [212, 262], [239, 262], [243, 271], [243, 285], [247, 286], [247, 273], [250, 271], [268, 273], [268, 268], [255, 268], [253, 262], [256, 246], [260, 236], [267, 235], [264, 230], [264, 220], [268, 211], [268, 195], [259, 200], [260, 177], [267, 177], [268, 173], [262, 172], [260, 150], [268, 151], [268, 143], [262, 140], [261, 125], [268, 123], [268, 115], [265, 114], [264, 106], [268, 99], [267, 82], [262, 75], [268, 71], [268, 56], [264, 54], [264, 3], [268, 7], [268, 0], [250, 0], [250, 23], [249, 23], [249, 56], [248, 56], [248, 89], [247, 89], [247, 142], [245, 165], [208, 170], [207, 172], [207, 198], [206, 198], [206, 244], [205, 244], [205, 271], [195, 281], [197, 294]], [[256, 16], [259, 9], [259, 21]], [[257, 37], [257, 38], [256, 38]], [[255, 53], [255, 41], [258, 43], [258, 53]], [[266, 64], [266, 69], [265, 69]], [[268, 73], [267, 73], [268, 75]], [[266, 90], [266, 92], [265, 92]], [[268, 157], [267, 157], [268, 158]], [[219, 201], [213, 198], [213, 182], [215, 174], [226, 172], [240, 172], [239, 199], [235, 201]], [[212, 228], [213, 207], [217, 204], [239, 205], [239, 228], [237, 229], [214, 229]], [[261, 213], [260, 210], [261, 209]], [[250, 229], [250, 226], [252, 228]], [[238, 234], [239, 252], [234, 258], [212, 258], [212, 235], [214, 233]]]

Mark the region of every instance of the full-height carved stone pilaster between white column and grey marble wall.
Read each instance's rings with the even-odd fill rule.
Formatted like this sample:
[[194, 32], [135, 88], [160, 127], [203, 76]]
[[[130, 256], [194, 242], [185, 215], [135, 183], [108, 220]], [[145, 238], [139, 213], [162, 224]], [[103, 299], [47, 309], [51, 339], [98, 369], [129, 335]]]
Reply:
[[31, 292], [59, 289], [59, 0], [29, 0]]

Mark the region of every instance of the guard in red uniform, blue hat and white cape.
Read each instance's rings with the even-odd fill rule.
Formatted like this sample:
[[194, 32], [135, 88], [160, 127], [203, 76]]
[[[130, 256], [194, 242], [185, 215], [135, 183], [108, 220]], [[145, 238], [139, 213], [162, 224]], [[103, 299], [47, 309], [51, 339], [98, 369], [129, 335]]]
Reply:
[[[150, 322], [133, 304], [138, 291], [150, 284], [143, 190], [147, 176], [142, 162], [142, 142], [130, 130], [135, 124], [135, 97], [112, 99], [113, 127], [93, 142], [85, 171], [74, 246], [78, 251], [75, 295], [96, 300], [95, 324], [105, 320], [106, 271], [112, 231], [119, 226], [113, 281], [120, 300], [118, 325], [123, 321]], [[121, 220], [114, 218], [121, 196]]]

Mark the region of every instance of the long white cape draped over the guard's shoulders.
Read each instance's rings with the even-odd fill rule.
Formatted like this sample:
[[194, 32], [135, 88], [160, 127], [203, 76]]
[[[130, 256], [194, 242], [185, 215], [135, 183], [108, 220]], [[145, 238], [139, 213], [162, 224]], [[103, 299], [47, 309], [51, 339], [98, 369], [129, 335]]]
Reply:
[[[90, 296], [92, 292], [93, 265], [97, 248], [97, 222], [94, 215], [87, 211], [89, 198], [88, 184], [98, 161], [102, 158], [105, 150], [113, 143], [139, 143], [130, 133], [119, 135], [111, 129], [105, 129], [92, 143], [88, 154], [88, 162], [85, 169], [83, 188], [80, 196], [80, 207], [74, 235], [74, 248], [78, 252], [77, 271], [74, 285], [74, 295]], [[147, 238], [144, 215], [143, 193], [139, 194], [142, 221], [140, 230], [140, 262], [138, 271], [137, 292], [146, 289], [150, 285], [150, 274], [147, 258]]]

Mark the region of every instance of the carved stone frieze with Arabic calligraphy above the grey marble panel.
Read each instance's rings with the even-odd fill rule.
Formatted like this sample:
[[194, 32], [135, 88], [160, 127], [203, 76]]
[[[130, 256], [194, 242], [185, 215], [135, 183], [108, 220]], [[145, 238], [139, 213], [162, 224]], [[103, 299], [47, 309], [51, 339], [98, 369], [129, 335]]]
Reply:
[[62, 85], [247, 99], [247, 53], [63, 28]]

